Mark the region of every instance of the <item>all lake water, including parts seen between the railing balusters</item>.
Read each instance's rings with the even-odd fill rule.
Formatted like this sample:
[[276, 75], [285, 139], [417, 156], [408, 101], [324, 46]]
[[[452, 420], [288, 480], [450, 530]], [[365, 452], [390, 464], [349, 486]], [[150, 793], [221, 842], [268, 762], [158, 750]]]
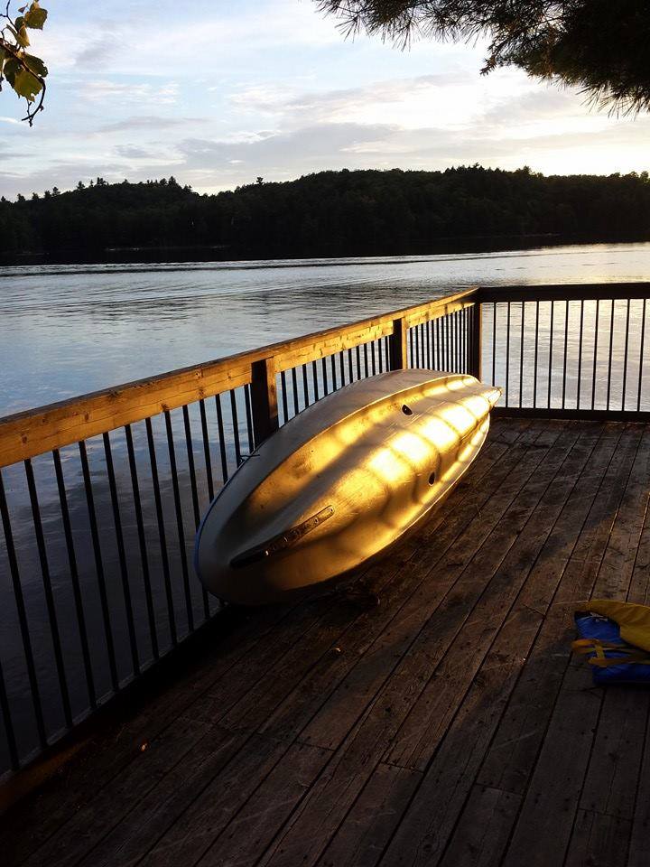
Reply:
[[[640, 281], [648, 275], [650, 243], [541, 247], [449, 256], [5, 267], [0, 269], [0, 415], [352, 322], [473, 284], [606, 283]], [[546, 396], [552, 397], [556, 406], [564, 397], [563, 358], [570, 402], [577, 400], [580, 386], [576, 369], [581, 369], [581, 406], [590, 406], [592, 401], [594, 406], [607, 406], [606, 374], [608, 367], [617, 374], [623, 368], [626, 318], [635, 340], [642, 328], [650, 333], [642, 304], [635, 302], [626, 308], [622, 302], [614, 310], [604, 302], [599, 317], [595, 303], [585, 303], [584, 311], [580, 303], [566, 305], [564, 309], [558, 305], [555, 320], [552, 316], [549, 319], [550, 305], [541, 304], [536, 311], [529, 309], [525, 313], [525, 328], [524, 305], [512, 304], [511, 311], [499, 308], [497, 324], [512, 313], [512, 333], [520, 334], [521, 340], [508, 345], [508, 379], [503, 363], [506, 346], [499, 345], [497, 337], [499, 362], [493, 368], [484, 355], [486, 378], [493, 378], [500, 385], [509, 383], [511, 394], [515, 398], [517, 393], [523, 396], [525, 405], [530, 406], [537, 388], [542, 395], [540, 406], [544, 406]], [[579, 345], [582, 312], [585, 341]], [[492, 334], [489, 305], [485, 316], [487, 351]], [[608, 338], [610, 322], [614, 323], [612, 340]], [[503, 324], [500, 322], [498, 333]], [[517, 352], [524, 354], [526, 368], [533, 369], [537, 331], [542, 378], [518, 382]], [[598, 341], [594, 340], [597, 331]], [[550, 352], [551, 335], [562, 350], [556, 355]], [[593, 366], [585, 362], [582, 368], [578, 367], [580, 349], [588, 361], [594, 359]], [[556, 365], [558, 376], [549, 382], [547, 371], [555, 370]], [[642, 397], [639, 406], [650, 408], [650, 381], [644, 382], [642, 395], [637, 350], [625, 369], [627, 408], [635, 408], [637, 399], [641, 401]], [[619, 395], [614, 396], [613, 407], [619, 406], [617, 400]], [[217, 433], [219, 410], [215, 401], [206, 402], [211, 470], [200, 440], [201, 420], [196, 404], [189, 410], [189, 443], [181, 410], [170, 415], [172, 441], [176, 443], [175, 472], [163, 417], [152, 420], [155, 461], [149, 450], [146, 425], [132, 425], [135, 475], [142, 495], [140, 516], [135, 509], [134, 476], [127, 460], [124, 430], [112, 433], [108, 446], [102, 437], [88, 440], [84, 446], [84, 454], [88, 454], [86, 474], [79, 447], [61, 449], [63, 499], [73, 528], [72, 556], [53, 456], [42, 455], [31, 464], [46, 557], [39, 550], [26, 468], [16, 464], [2, 472], [31, 637], [34, 676], [48, 734], [59, 732], [65, 720], [54, 664], [55, 630], [51, 629], [43, 591], [46, 576], [60, 623], [60, 655], [70, 712], [76, 718], [88, 712], [90, 696], [101, 701], [110, 695], [114, 682], [124, 682], [132, 675], [136, 667], [132, 633], [135, 656], [146, 666], [156, 653], [154, 640], [161, 652], [172, 646], [174, 618], [173, 629], [181, 638], [191, 629], [191, 617], [200, 622], [204, 616], [200, 584], [190, 565], [197, 517], [194, 506], [196, 503], [200, 512], [207, 508], [209, 478], [216, 477], [214, 487], [218, 489], [227, 474], [219, 477], [221, 455], [228, 463], [228, 473], [235, 470], [237, 452], [233, 451], [231, 434], [239, 424], [233, 409], [233, 403], [237, 402], [241, 423], [245, 416], [242, 394], [232, 403], [224, 401], [223, 452], [219, 451]], [[244, 441], [242, 444], [247, 449], [248, 444]], [[107, 481], [108, 453], [112, 453], [111, 460], [115, 462], [114, 489]], [[154, 483], [154, 463], [160, 510], [154, 496], [158, 486], [158, 482]], [[178, 480], [178, 489], [174, 489], [174, 480]], [[193, 480], [198, 499], [193, 499]], [[98, 527], [95, 536], [93, 521]], [[167, 563], [170, 586], [165, 583]], [[25, 757], [36, 749], [38, 738], [28, 680], [28, 654], [10, 572], [9, 549], [0, 529], [0, 663], [14, 721], [16, 749]], [[71, 580], [75, 574], [77, 596]], [[210, 600], [209, 612], [217, 606], [216, 601]], [[79, 627], [79, 611], [85, 620], [83, 629]], [[89, 672], [82, 664], [84, 635]], [[107, 665], [111, 642], [115, 647], [115, 671]], [[8, 740], [0, 724], [0, 775], [8, 767], [8, 761]]]

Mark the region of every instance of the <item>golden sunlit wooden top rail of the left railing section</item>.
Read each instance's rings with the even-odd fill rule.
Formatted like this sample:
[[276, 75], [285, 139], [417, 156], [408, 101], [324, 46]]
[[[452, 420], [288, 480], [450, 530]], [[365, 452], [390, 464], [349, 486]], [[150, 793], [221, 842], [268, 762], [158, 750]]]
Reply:
[[392, 335], [395, 321], [411, 328], [470, 307], [476, 294], [476, 288], [467, 289], [382, 316], [8, 415], [0, 419], [0, 468], [244, 386], [251, 382], [256, 361], [271, 359], [274, 372], [297, 367]]

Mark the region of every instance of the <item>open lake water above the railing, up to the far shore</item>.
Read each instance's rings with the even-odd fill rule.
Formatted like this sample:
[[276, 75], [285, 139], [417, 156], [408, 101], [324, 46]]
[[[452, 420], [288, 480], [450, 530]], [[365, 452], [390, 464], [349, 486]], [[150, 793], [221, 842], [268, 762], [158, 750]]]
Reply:
[[650, 243], [498, 253], [0, 269], [0, 415], [472, 284], [644, 280]]

